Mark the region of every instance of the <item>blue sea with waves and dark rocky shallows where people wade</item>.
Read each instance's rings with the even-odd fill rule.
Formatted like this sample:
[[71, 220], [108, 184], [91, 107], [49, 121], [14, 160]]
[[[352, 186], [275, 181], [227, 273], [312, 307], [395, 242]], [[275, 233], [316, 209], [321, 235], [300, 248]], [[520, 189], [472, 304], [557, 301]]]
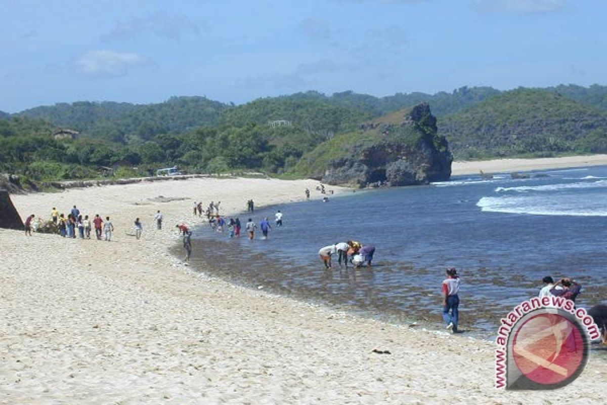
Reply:
[[[460, 329], [492, 338], [536, 296], [544, 276], [582, 284], [577, 305], [607, 303], [607, 166], [453, 176], [425, 186], [370, 189], [239, 214], [273, 223], [268, 239], [195, 230], [192, 265], [361, 316], [444, 330], [445, 269], [461, 277]], [[313, 191], [313, 197], [319, 197]], [[303, 194], [303, 190], [302, 190]], [[316, 195], [314, 195], [316, 194]], [[274, 213], [283, 213], [283, 226]], [[346, 240], [376, 246], [373, 267], [326, 270], [318, 250]]]

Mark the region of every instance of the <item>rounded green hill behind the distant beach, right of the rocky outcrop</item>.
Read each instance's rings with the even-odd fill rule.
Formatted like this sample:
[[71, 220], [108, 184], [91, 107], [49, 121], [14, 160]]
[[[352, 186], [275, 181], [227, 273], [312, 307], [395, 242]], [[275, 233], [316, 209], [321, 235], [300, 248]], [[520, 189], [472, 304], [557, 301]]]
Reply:
[[607, 152], [607, 115], [538, 89], [491, 97], [439, 120], [456, 158]]

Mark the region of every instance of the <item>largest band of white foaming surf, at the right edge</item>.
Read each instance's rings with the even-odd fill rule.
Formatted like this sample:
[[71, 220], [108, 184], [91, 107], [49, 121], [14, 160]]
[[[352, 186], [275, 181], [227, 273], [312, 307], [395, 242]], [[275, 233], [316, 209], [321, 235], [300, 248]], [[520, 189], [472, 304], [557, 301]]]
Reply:
[[607, 217], [603, 201], [552, 197], [482, 197], [476, 206], [483, 212], [547, 216]]

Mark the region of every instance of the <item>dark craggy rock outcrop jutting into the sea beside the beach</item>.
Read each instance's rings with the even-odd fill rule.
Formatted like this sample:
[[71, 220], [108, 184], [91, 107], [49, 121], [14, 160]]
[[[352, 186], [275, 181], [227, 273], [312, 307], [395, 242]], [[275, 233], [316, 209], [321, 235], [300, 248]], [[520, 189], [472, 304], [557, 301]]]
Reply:
[[[400, 115], [361, 125], [367, 141], [329, 162], [322, 182], [331, 185], [421, 185], [449, 180], [453, 157], [447, 140], [438, 135], [436, 118], [427, 103]], [[369, 141], [371, 139], [372, 141]]]

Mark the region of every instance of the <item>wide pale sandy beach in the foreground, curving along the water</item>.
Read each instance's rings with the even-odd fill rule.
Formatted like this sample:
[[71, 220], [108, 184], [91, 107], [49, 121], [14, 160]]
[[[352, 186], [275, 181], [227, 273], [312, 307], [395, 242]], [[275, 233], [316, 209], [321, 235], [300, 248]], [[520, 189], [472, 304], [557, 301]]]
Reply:
[[[510, 167], [486, 163], [475, 164]], [[454, 174], [464, 169], [472, 162], [454, 163]], [[302, 200], [306, 187], [319, 198], [316, 185], [188, 179], [12, 196], [23, 218], [76, 205], [110, 216], [115, 233], [104, 242], [0, 230], [0, 403], [605, 403], [606, 362], [591, 359], [556, 392], [505, 392], [494, 387], [491, 342], [236, 287], [169, 254], [176, 223], [202, 222], [192, 216], [194, 201], [220, 200], [233, 214], [248, 199]], [[135, 217], [141, 240], [131, 236]]]

